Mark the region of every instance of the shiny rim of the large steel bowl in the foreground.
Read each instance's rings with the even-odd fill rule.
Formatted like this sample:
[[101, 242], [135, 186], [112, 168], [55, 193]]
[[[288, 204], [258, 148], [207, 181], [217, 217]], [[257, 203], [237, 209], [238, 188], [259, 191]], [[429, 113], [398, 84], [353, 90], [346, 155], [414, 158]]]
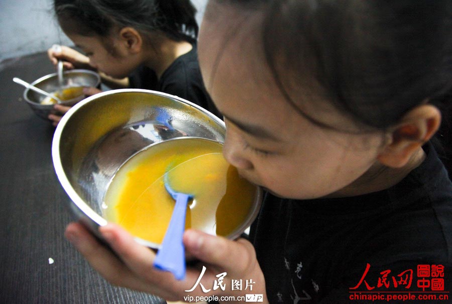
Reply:
[[[171, 94], [168, 94], [168, 93], [154, 91], [154, 90], [148, 90], [148, 89], [125, 88], [125, 89], [108, 90], [108, 91], [104, 91], [104, 92], [100, 92], [100, 93], [94, 94], [92, 96], [88, 96], [85, 99], [81, 100], [81, 102], [79, 102], [76, 105], [74, 105], [62, 117], [62, 119], [58, 123], [58, 126], [57, 126], [57, 128], [55, 130], [55, 133], [53, 135], [53, 140], [52, 140], [52, 161], [53, 161], [53, 166], [54, 166], [57, 178], [60, 181], [63, 189], [65, 190], [65, 192], [67, 193], [69, 198], [72, 200], [73, 204], [75, 204], [76, 207], [78, 209], [80, 209], [80, 211], [85, 216], [87, 216], [91, 221], [93, 221], [98, 226], [105, 226], [108, 222], [102, 216], [97, 214], [93, 209], [91, 209], [91, 207], [89, 207], [88, 204], [86, 204], [86, 202], [84, 202], [84, 200], [77, 194], [77, 192], [72, 187], [71, 183], [69, 182], [68, 177], [66, 176], [66, 174], [64, 172], [64, 169], [63, 169], [63, 166], [62, 166], [62, 163], [61, 163], [60, 145], [59, 145], [59, 143], [61, 142], [61, 135], [62, 135], [62, 132], [64, 130], [64, 126], [69, 121], [69, 119], [72, 117], [72, 115], [74, 115], [74, 113], [76, 113], [78, 111], [78, 109], [84, 107], [86, 104], [92, 102], [93, 100], [96, 100], [96, 99], [98, 99], [100, 97], [103, 97], [103, 96], [108, 96], [108, 95], [111, 95], [111, 94], [118, 94], [118, 93], [130, 93], [130, 92], [132, 92], [132, 93], [136, 93], [136, 92], [149, 93], [149, 94], [154, 94], [154, 95], [160, 95], [160, 96], [164, 96], [164, 97], [174, 98], [174, 99], [176, 99], [179, 102], [188, 104], [188, 105], [200, 110], [201, 112], [206, 113], [210, 117], [210, 119], [215, 120], [217, 123], [219, 123], [222, 127], [225, 128], [225, 123], [221, 119], [219, 119], [218, 117], [216, 117], [212, 113], [208, 112], [206, 109], [204, 109], [204, 108], [202, 108], [202, 107], [190, 102], [189, 100], [183, 99], [183, 98], [181, 98], [179, 96], [176, 96], [176, 95], [171, 95]], [[182, 137], [182, 138], [190, 138], [190, 137]], [[194, 138], [199, 138], [199, 137], [194, 137]], [[212, 141], [215, 141], [215, 140], [212, 140]], [[219, 142], [219, 141], [216, 141], [216, 142]], [[219, 143], [221, 143], [221, 142], [219, 142]], [[250, 212], [250, 216], [248, 217], [247, 221], [244, 222], [241, 226], [239, 226], [237, 228], [238, 232], [236, 232], [235, 234], [227, 236], [228, 238], [236, 239], [237, 237], [239, 237], [243, 233], [243, 231], [252, 224], [252, 222], [254, 221], [256, 216], [258, 215], [259, 210], [260, 210], [260, 206], [262, 204], [263, 190], [258, 185], [256, 185], [256, 189], [257, 189], [256, 190], [257, 204], [253, 205], [254, 209]], [[157, 249], [157, 248], [160, 247], [160, 245], [158, 245], [158, 244], [155, 244], [155, 243], [143, 240], [141, 238], [138, 238], [138, 237], [134, 237], [134, 238], [141, 245], [144, 245], [144, 246], [147, 246], [147, 247], [150, 247], [150, 248], [154, 248], [154, 249]]]

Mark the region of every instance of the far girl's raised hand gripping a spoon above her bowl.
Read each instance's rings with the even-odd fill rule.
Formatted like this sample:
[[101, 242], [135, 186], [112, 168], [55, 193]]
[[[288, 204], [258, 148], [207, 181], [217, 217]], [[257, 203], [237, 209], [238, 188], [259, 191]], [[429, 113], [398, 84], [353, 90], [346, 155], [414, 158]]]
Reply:
[[58, 60], [63, 60], [63, 66], [67, 70], [75, 68], [89, 70], [94, 69], [91, 65], [89, 65], [88, 57], [64, 45], [60, 48], [51, 47], [47, 50], [47, 55], [55, 66], [58, 64]]

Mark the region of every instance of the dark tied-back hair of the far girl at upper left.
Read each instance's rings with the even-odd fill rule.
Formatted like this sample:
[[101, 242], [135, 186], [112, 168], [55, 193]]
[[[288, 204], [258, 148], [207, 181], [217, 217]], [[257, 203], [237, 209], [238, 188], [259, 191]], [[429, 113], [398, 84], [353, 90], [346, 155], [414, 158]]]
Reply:
[[54, 0], [64, 28], [82, 36], [107, 37], [115, 26], [146, 34], [161, 31], [175, 41], [193, 42], [198, 35], [196, 9], [189, 0]]

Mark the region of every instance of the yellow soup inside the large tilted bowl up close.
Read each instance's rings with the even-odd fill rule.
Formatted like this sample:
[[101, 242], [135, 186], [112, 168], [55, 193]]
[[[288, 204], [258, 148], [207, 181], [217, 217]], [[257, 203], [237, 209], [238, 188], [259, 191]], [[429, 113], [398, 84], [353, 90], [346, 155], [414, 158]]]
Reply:
[[178, 138], [143, 150], [121, 166], [104, 198], [104, 216], [134, 236], [161, 244], [175, 201], [171, 188], [193, 195], [185, 228], [228, 237], [249, 218], [257, 187], [239, 176], [221, 153], [222, 145]]

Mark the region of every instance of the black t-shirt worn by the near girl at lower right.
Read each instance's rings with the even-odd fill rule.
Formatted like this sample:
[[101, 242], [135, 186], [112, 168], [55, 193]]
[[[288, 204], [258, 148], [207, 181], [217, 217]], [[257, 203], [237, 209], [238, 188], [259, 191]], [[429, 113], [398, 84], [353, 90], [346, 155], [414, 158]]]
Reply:
[[266, 194], [250, 240], [270, 303], [448, 296], [452, 184], [431, 144], [423, 148], [422, 164], [383, 191], [312, 200]]

